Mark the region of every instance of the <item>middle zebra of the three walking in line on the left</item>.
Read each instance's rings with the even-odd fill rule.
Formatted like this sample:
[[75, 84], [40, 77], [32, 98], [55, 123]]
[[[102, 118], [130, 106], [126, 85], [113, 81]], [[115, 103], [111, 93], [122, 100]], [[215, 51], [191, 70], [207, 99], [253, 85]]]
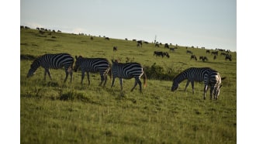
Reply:
[[108, 60], [106, 60], [105, 58], [85, 58], [81, 56], [75, 56], [75, 59], [76, 61], [74, 65], [74, 71], [76, 72], [78, 70], [78, 67], [81, 67], [81, 84], [83, 84], [85, 72], [87, 74], [88, 85], [90, 85], [89, 72], [99, 72], [101, 77], [101, 83], [99, 84], [99, 86], [102, 85], [103, 81], [105, 81], [103, 87], [106, 85], [107, 74], [109, 74], [110, 71], [110, 63]]

